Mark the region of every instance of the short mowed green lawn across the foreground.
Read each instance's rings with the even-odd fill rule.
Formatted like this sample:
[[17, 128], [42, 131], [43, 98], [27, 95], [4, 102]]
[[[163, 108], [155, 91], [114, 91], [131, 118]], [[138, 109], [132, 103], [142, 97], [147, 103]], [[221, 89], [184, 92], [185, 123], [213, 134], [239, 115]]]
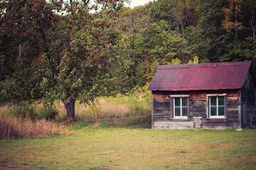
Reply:
[[80, 128], [0, 141], [0, 169], [256, 169], [256, 130]]

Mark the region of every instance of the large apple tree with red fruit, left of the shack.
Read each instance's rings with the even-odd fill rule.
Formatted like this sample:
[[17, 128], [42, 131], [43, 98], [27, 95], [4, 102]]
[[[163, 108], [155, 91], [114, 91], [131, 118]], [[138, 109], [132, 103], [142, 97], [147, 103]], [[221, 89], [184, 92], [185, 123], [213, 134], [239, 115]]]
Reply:
[[59, 99], [73, 120], [75, 101], [114, 94], [127, 32], [116, 28], [122, 2], [1, 1], [1, 68], [11, 67], [0, 84], [4, 100]]

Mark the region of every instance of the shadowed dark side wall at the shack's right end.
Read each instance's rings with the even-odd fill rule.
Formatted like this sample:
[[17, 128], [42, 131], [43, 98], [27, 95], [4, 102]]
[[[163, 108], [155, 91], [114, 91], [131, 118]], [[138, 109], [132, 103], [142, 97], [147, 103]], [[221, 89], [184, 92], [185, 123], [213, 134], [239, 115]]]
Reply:
[[256, 126], [256, 93], [250, 73], [247, 74], [245, 84], [241, 88], [241, 113], [242, 127], [251, 128]]

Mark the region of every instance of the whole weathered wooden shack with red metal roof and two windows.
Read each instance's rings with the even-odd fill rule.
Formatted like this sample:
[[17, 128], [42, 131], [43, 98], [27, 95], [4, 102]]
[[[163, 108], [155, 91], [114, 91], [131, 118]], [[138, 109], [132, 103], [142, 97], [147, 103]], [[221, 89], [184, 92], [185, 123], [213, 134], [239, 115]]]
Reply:
[[154, 129], [256, 125], [252, 62], [160, 65], [149, 84]]

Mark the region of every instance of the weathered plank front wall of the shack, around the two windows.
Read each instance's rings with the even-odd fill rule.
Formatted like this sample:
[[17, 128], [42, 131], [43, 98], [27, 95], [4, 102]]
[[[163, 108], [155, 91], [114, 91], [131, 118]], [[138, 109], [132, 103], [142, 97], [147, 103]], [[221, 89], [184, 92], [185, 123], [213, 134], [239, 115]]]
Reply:
[[[154, 127], [166, 129], [193, 128], [193, 118], [202, 117], [202, 128], [231, 129], [239, 127], [239, 90], [221, 91], [153, 91]], [[206, 94], [226, 94], [227, 118], [209, 119], [206, 114]], [[189, 95], [188, 120], [174, 120], [170, 116], [170, 95]]]

